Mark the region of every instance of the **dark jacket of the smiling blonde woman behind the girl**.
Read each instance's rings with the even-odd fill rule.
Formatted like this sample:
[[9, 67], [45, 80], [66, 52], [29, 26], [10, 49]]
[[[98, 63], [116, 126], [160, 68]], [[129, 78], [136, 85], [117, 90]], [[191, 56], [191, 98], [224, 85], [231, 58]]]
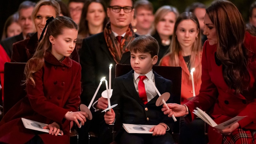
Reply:
[[[11, 62], [27, 62], [36, 52], [38, 45], [37, 32], [22, 41], [13, 44]], [[71, 53], [71, 59], [79, 62], [76, 48]]]

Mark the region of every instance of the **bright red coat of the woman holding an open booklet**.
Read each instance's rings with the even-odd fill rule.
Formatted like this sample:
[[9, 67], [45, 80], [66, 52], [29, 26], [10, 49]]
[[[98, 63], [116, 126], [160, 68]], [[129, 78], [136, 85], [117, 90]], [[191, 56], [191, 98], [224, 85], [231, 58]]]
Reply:
[[[217, 45], [204, 43], [202, 55], [202, 84], [199, 94], [186, 103], [192, 119], [196, 117], [193, 110], [198, 107], [210, 111], [217, 124], [235, 116], [247, 116], [238, 123], [241, 128], [256, 130], [256, 37], [248, 32], [245, 34], [244, 46], [248, 50], [248, 70], [251, 81], [248, 91], [235, 95], [234, 89], [229, 89], [222, 73], [222, 65], [215, 62], [214, 53]], [[222, 135], [213, 131], [209, 126], [208, 137], [210, 144], [222, 142]]]

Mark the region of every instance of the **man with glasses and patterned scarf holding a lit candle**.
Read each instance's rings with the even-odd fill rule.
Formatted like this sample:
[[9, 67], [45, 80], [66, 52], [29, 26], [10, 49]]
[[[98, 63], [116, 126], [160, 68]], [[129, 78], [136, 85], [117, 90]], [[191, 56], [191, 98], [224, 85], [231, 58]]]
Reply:
[[[83, 86], [81, 101], [85, 105], [88, 106], [92, 100], [100, 79], [106, 76], [108, 80], [110, 64], [113, 65], [111, 87], [113, 87], [115, 78], [115, 65], [117, 63], [130, 64], [128, 47], [135, 38], [131, 25], [133, 13], [133, 0], [110, 0], [107, 8], [109, 22], [104, 31], [83, 40], [80, 55]], [[95, 98], [99, 101], [91, 107], [93, 117], [91, 124], [85, 125], [85, 127], [91, 127], [90, 131], [97, 131], [96, 133], [99, 134], [97, 143], [99, 144], [109, 144], [113, 138], [113, 129], [105, 123], [104, 113], [101, 113], [108, 107], [108, 100], [101, 97], [101, 92], [104, 90], [106, 90], [106, 86], [103, 83]]]

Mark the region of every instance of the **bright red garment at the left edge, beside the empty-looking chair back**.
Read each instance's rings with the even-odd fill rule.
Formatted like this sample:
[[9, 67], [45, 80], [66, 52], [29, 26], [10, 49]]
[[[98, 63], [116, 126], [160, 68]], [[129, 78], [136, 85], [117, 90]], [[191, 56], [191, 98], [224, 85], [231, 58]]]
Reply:
[[10, 58], [5, 52], [2, 45], [0, 45], [0, 80], [2, 86], [2, 101], [4, 101], [4, 63], [10, 62]]

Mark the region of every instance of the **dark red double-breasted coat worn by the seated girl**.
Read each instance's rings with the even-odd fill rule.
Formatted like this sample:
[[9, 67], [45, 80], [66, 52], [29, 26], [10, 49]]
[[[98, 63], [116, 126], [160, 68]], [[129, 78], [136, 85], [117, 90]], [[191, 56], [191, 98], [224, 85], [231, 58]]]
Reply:
[[[38, 135], [45, 144], [68, 144], [70, 126], [64, 116], [68, 111], [77, 111], [80, 104], [80, 64], [69, 57], [60, 62], [50, 53], [45, 57], [44, 66], [33, 77], [35, 87], [28, 83], [27, 95], [0, 122], [0, 142], [21, 144]], [[57, 122], [64, 135], [55, 136], [26, 129], [21, 117], [45, 124]]]

